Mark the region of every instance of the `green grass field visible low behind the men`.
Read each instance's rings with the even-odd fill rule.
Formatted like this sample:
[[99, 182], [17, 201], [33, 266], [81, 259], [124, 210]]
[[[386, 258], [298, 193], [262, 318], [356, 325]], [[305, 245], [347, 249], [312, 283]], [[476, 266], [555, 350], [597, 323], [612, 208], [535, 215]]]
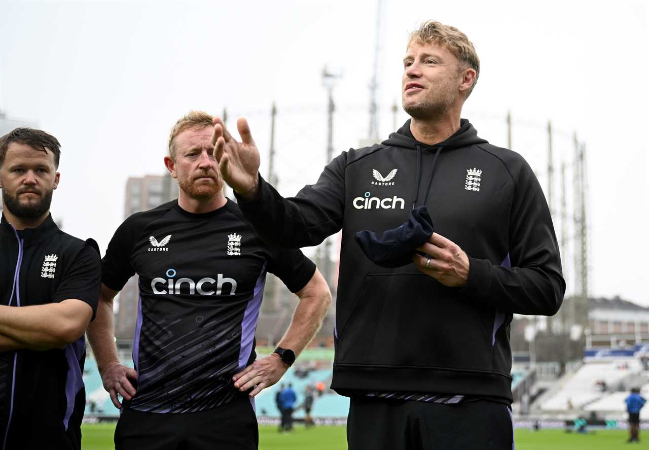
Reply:
[[[82, 426], [83, 450], [107, 450], [114, 448], [114, 424]], [[627, 433], [621, 430], [596, 431], [592, 434], [573, 434], [562, 430], [543, 430], [532, 432], [525, 429], [516, 431], [517, 450], [616, 450], [646, 448], [649, 433], [640, 445], [626, 444]], [[259, 429], [260, 450], [345, 450], [345, 427], [315, 427], [305, 430], [297, 427], [295, 431], [280, 434], [275, 427], [263, 426]]]

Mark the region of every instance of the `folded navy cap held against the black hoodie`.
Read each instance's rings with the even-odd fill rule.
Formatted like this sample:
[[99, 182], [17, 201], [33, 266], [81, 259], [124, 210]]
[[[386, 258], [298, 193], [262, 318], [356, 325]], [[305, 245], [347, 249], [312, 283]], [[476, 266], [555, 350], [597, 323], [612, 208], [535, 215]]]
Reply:
[[359, 231], [354, 234], [354, 240], [374, 264], [396, 268], [411, 264], [413, 253], [428, 241], [433, 231], [428, 209], [419, 206], [410, 212], [408, 221], [397, 228], [387, 230], [381, 236], [369, 230]]

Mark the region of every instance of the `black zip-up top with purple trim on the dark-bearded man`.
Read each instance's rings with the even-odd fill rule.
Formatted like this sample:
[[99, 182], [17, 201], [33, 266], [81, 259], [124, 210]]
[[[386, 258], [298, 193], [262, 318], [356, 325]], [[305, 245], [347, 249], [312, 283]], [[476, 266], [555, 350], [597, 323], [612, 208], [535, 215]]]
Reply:
[[[48, 216], [32, 229], [0, 220], [0, 305], [99, 301], [99, 247], [62, 232]], [[0, 450], [81, 448], [86, 407], [81, 336], [62, 349], [0, 351]]]

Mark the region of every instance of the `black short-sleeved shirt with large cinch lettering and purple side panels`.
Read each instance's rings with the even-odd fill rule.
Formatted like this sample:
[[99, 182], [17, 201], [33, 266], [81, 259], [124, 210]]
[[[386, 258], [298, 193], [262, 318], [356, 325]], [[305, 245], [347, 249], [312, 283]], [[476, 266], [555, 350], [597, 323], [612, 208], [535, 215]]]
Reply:
[[102, 269], [112, 290], [140, 277], [137, 394], [125, 407], [182, 413], [224, 405], [236, 394], [232, 375], [256, 356], [266, 272], [297, 292], [315, 265], [299, 250], [265, 244], [230, 200], [205, 214], [172, 201], [126, 219]]

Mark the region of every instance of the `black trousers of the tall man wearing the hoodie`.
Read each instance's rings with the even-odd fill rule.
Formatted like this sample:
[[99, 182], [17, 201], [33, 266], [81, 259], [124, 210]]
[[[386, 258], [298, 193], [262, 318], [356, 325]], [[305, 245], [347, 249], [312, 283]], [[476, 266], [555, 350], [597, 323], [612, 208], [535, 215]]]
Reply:
[[503, 403], [456, 405], [352, 397], [349, 450], [513, 450], [511, 410]]

